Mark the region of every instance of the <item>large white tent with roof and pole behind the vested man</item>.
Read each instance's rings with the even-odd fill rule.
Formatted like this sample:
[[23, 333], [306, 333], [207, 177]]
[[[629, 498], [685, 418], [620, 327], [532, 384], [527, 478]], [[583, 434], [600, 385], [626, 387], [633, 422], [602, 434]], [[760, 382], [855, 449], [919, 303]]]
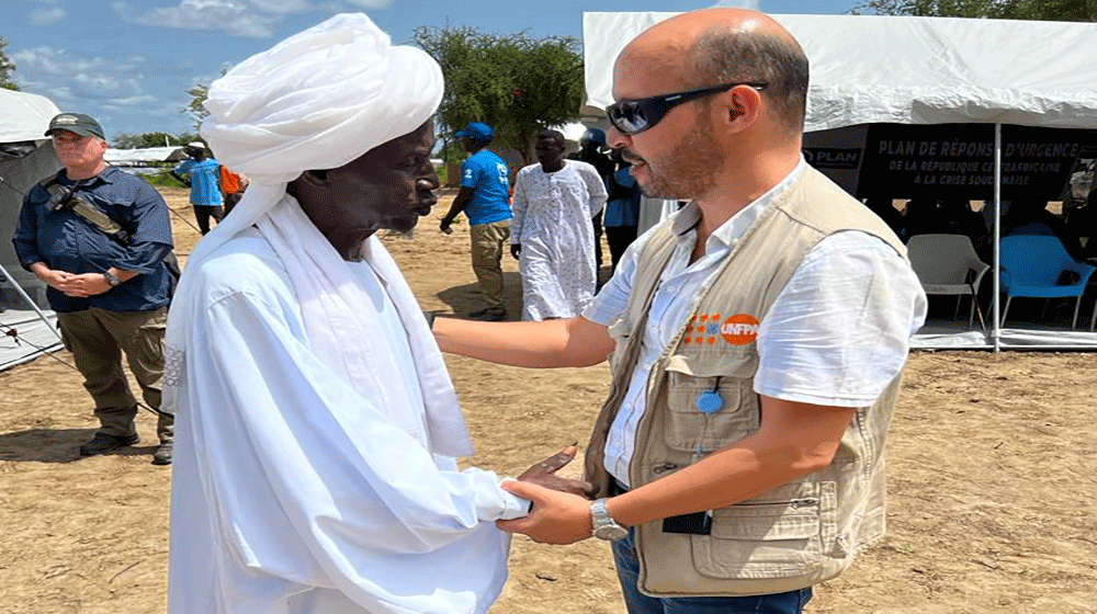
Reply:
[[[584, 13], [585, 116], [603, 115], [613, 102], [613, 61], [624, 45], [674, 14]], [[1097, 129], [1097, 24], [772, 16], [800, 41], [811, 62], [805, 132], [867, 124], [989, 124], [995, 202], [1002, 201], [1003, 125]], [[994, 230], [997, 237], [997, 225]], [[997, 253], [994, 260], [997, 271]], [[995, 305], [994, 322], [997, 312]], [[924, 346], [1097, 349], [1097, 333], [993, 325], [985, 336], [919, 336], [916, 341]]]

